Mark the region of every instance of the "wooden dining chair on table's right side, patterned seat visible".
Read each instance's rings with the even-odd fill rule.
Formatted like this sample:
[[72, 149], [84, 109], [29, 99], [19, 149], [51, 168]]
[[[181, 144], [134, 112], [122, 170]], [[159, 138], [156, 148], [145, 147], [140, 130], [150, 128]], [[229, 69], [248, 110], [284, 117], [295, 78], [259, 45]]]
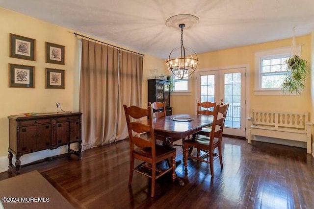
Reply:
[[[190, 147], [195, 147], [200, 150], [206, 151], [206, 154], [199, 156], [190, 156], [191, 159], [195, 159], [201, 162], [209, 163], [211, 176], [214, 176], [213, 172], [213, 161], [219, 158], [220, 166], [223, 167], [222, 163], [222, 133], [225, 125], [225, 119], [227, 116], [229, 104], [217, 105], [213, 114], [213, 123], [210, 132], [210, 136], [198, 134], [193, 139], [187, 139], [184, 141], [184, 153], [185, 160], [184, 166], [187, 171], [187, 160], [188, 160], [188, 150]], [[218, 116], [219, 115], [219, 116]], [[214, 153], [215, 149], [218, 148], [218, 153]], [[207, 159], [209, 158], [209, 159]]]

